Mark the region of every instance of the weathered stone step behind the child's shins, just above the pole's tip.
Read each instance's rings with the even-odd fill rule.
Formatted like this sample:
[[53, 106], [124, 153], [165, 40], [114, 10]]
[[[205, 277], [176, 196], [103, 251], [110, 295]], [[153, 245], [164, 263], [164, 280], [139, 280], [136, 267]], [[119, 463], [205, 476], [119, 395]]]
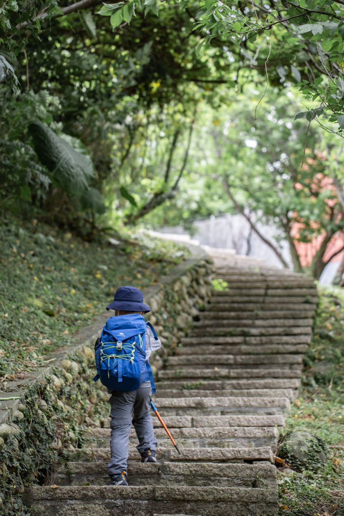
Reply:
[[[171, 442], [163, 428], [155, 429], [155, 437], [159, 446], [169, 447]], [[110, 443], [110, 429], [90, 429], [86, 437], [92, 446], [105, 447]], [[274, 427], [223, 427], [223, 428], [176, 428], [173, 437], [178, 446], [184, 448], [257, 448], [271, 446], [276, 449], [278, 430]], [[130, 445], [138, 444], [135, 430], [130, 433]]]

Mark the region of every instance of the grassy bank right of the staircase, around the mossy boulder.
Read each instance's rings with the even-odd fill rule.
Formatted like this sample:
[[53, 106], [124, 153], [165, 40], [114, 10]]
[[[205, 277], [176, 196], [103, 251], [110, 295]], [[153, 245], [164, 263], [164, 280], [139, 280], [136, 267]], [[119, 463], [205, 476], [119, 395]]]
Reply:
[[327, 444], [328, 460], [316, 473], [279, 469], [279, 515], [344, 515], [343, 365], [344, 292], [322, 289], [302, 393], [294, 401], [286, 429], [316, 432]]

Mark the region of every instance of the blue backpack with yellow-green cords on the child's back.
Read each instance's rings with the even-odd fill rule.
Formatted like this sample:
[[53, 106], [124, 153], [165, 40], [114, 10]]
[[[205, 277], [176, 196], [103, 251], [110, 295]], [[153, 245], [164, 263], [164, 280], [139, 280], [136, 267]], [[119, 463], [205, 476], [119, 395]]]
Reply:
[[155, 392], [152, 369], [146, 360], [147, 326], [158, 340], [154, 328], [140, 314], [118, 315], [107, 319], [95, 345], [97, 375], [113, 391], [134, 391], [150, 380]]

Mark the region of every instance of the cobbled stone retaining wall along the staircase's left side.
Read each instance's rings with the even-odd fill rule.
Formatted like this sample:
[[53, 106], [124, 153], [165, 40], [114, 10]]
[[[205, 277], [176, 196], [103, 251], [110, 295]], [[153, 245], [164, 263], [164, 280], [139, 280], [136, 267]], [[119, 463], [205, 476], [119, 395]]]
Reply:
[[[212, 262], [199, 248], [191, 246], [191, 251], [190, 259], [144, 293], [152, 308], [149, 320], [163, 344], [152, 357], [154, 372], [174, 353], [211, 295]], [[49, 366], [8, 381], [0, 393], [0, 513], [4, 516], [28, 514], [21, 499], [24, 485], [42, 483], [58, 450], [79, 447], [83, 428], [101, 422], [107, 414], [108, 394], [91, 378], [93, 344], [108, 316], [99, 316], [78, 332], [73, 348], [52, 353]]]

